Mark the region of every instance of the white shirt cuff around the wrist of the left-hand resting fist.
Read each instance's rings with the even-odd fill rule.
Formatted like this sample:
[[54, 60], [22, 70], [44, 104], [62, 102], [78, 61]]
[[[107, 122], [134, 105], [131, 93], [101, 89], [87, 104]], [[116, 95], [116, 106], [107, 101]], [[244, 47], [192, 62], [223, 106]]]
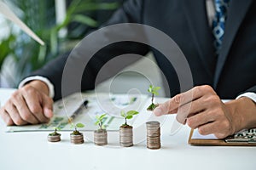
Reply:
[[45, 77], [39, 77], [39, 76], [27, 77], [20, 82], [19, 88], [22, 88], [26, 84], [26, 82], [30, 82], [32, 80], [40, 80], [40, 81], [44, 82], [49, 88], [49, 97], [53, 98], [55, 96], [55, 90], [54, 90], [53, 84], [51, 82], [49, 82], [49, 80]]

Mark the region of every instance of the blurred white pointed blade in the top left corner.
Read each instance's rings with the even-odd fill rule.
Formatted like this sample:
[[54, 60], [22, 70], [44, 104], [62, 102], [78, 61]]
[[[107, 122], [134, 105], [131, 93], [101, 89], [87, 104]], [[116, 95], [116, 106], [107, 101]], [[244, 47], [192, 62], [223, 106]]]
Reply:
[[0, 14], [3, 14], [7, 19], [13, 21], [16, 25], [20, 26], [21, 30], [25, 31], [35, 41], [44, 45], [44, 42], [29, 28], [27, 27], [10, 9], [0, 0]]

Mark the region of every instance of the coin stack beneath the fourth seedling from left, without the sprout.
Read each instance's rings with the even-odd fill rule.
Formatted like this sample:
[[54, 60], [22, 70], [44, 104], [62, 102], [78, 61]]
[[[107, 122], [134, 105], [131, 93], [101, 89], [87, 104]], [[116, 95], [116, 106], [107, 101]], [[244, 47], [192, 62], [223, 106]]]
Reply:
[[123, 147], [129, 147], [133, 145], [132, 142], [132, 127], [121, 126], [119, 128], [119, 144]]

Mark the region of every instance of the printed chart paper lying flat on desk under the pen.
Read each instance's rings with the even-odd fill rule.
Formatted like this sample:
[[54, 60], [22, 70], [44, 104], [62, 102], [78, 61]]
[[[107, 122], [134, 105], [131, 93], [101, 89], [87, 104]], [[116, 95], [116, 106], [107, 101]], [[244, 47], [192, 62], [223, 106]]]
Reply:
[[87, 107], [73, 120], [74, 124], [81, 122], [85, 125], [83, 128], [79, 128], [82, 131], [96, 130], [96, 115], [106, 112], [108, 114], [103, 119], [103, 125], [107, 126], [109, 131], [117, 131], [119, 126], [124, 123], [124, 118], [119, 116], [121, 110], [143, 111], [145, 101], [150, 100], [147, 95], [143, 94], [72, 94], [55, 102], [54, 117], [49, 123], [9, 126], [7, 132], [53, 131], [55, 127], [59, 127], [61, 131], [71, 131], [73, 128], [68, 122], [68, 118], [82, 105], [84, 99], [89, 101]]

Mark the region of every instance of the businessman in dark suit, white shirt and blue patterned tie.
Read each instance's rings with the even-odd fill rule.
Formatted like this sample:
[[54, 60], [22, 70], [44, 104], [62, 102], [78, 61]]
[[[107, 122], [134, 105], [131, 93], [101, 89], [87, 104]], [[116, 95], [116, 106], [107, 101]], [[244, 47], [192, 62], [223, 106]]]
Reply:
[[[255, 9], [253, 0], [128, 0], [104, 26], [139, 23], [165, 32], [188, 60], [194, 88], [181, 91], [172, 64], [157, 49], [138, 42], [118, 42], [90, 59], [82, 90], [95, 88], [97, 72], [114, 56], [152, 51], [172, 95], [154, 110], [156, 116], [177, 113], [179, 122], [218, 138], [256, 127]], [[20, 83], [0, 111], [7, 125], [49, 121], [53, 99], [62, 97], [61, 75], [67, 57], [55, 59]], [[223, 103], [221, 99], [231, 100]]]

